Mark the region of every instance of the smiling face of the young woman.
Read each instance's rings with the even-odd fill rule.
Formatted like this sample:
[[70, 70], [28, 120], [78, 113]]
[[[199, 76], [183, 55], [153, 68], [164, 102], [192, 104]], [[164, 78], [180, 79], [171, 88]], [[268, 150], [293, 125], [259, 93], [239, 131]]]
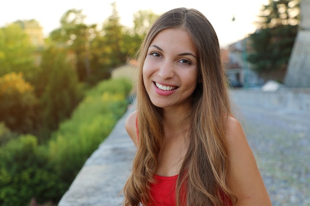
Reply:
[[165, 29], [155, 36], [143, 65], [143, 82], [155, 106], [188, 105], [198, 73], [197, 49], [186, 30]]

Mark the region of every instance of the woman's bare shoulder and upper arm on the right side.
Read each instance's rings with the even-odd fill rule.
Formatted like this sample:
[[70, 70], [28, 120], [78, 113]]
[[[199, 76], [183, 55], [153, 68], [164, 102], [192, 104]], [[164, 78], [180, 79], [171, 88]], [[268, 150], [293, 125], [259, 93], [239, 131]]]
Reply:
[[235, 206], [271, 206], [269, 195], [242, 125], [232, 117], [229, 117], [227, 124], [228, 184], [238, 198]]

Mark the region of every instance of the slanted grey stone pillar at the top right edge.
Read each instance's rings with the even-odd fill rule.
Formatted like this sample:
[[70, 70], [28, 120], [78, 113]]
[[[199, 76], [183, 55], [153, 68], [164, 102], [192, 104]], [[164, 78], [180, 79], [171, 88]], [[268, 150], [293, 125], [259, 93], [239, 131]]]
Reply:
[[301, 0], [300, 9], [300, 30], [284, 80], [288, 87], [310, 87], [310, 0]]

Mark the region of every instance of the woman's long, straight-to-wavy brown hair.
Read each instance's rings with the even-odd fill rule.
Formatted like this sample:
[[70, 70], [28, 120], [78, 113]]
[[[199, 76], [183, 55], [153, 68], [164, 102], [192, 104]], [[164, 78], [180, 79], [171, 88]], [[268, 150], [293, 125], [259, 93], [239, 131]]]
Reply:
[[[201, 12], [187, 8], [162, 14], [140, 48], [136, 82], [139, 145], [132, 173], [124, 187], [124, 205], [148, 205], [152, 199], [149, 185], [154, 182], [163, 135], [162, 111], [148, 96], [142, 68], [151, 42], [160, 31], [168, 28], [183, 28], [188, 32], [198, 51], [200, 70], [199, 83], [192, 95], [189, 149], [177, 180], [177, 206], [222, 206], [223, 197], [233, 197], [227, 184], [229, 165], [225, 135], [227, 116], [231, 115], [227, 82], [212, 25]], [[180, 201], [184, 198], [186, 203]]]

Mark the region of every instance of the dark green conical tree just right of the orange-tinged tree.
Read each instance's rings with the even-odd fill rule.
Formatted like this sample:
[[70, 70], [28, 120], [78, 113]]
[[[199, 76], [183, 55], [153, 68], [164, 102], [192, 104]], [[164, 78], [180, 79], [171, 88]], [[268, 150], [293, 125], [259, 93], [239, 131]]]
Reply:
[[66, 58], [67, 51], [54, 46], [42, 55], [41, 71], [35, 85], [40, 98], [42, 127], [47, 132], [43, 134], [43, 140], [47, 140], [49, 131], [70, 117], [83, 97], [76, 71]]

